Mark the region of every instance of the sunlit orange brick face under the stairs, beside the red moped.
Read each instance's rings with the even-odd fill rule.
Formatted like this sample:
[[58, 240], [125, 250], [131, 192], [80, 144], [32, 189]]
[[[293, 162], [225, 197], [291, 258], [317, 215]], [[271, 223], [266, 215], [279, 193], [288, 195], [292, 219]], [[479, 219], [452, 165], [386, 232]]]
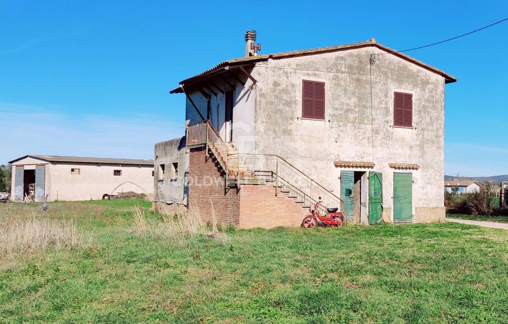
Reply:
[[275, 197], [275, 187], [266, 185], [243, 185], [240, 189], [239, 228], [265, 228], [277, 226], [300, 226], [303, 217], [310, 214], [308, 208], [279, 192]]

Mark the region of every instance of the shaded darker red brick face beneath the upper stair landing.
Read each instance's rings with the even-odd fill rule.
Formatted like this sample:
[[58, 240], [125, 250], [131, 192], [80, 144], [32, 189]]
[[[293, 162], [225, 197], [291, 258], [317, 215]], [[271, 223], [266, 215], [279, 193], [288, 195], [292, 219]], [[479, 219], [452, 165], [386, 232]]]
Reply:
[[223, 173], [204, 147], [190, 149], [189, 206], [196, 206], [201, 218], [212, 222], [212, 205], [218, 223], [239, 225], [239, 199], [236, 188], [224, 188]]

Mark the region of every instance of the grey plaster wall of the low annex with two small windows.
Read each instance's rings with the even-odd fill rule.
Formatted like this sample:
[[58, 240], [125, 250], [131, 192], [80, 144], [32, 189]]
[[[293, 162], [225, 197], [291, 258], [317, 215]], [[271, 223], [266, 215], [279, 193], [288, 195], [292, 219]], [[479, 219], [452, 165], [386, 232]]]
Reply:
[[[178, 180], [171, 181], [171, 164], [178, 163]], [[161, 179], [159, 165], [166, 165], [166, 177]], [[165, 204], [187, 204], [188, 154], [185, 153], [185, 137], [155, 143], [155, 170], [153, 200]]]

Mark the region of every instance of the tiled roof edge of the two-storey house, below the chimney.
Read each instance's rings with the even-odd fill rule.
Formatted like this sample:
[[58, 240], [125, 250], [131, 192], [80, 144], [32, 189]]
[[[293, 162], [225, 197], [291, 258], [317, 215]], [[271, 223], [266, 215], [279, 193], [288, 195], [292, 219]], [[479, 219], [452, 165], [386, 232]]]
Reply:
[[[216, 70], [218, 70], [219, 68], [222, 68], [222, 67], [226, 67], [230, 64], [241, 64], [241, 63], [255, 63], [255, 62], [258, 62], [258, 61], [264, 61], [264, 60], [268, 60], [269, 58], [273, 58], [273, 59], [276, 59], [276, 58], [286, 58], [286, 57], [291, 57], [291, 56], [301, 56], [301, 55], [311, 55], [311, 54], [320, 54], [320, 53], [326, 53], [326, 52], [334, 52], [334, 51], [339, 51], [339, 50], [344, 50], [344, 49], [352, 49], [352, 48], [359, 48], [359, 47], [365, 47], [365, 46], [375, 46], [381, 50], [384, 50], [388, 53], [392, 53], [393, 55], [396, 55], [396, 56], [399, 56], [399, 57], [402, 57], [412, 63], [415, 63], [417, 64], [418, 66], [421, 66], [425, 69], [428, 69], [434, 73], [437, 73], [441, 76], [443, 76], [445, 79], [446, 79], [446, 82], [447, 83], [451, 83], [451, 82], [456, 82], [457, 81], [457, 78], [449, 75], [448, 73], [442, 71], [442, 70], [439, 70], [439, 69], [436, 69], [432, 66], [430, 66], [429, 64], [426, 64], [422, 61], [419, 61], [417, 60], [416, 58], [414, 57], [411, 57], [409, 55], [406, 55], [404, 53], [400, 53], [400, 52], [397, 52], [396, 50], [394, 49], [391, 49], [385, 45], [382, 45], [382, 44], [379, 44], [377, 43], [374, 39], [372, 40], [368, 40], [368, 41], [365, 41], [365, 42], [358, 42], [358, 43], [352, 43], [352, 44], [343, 44], [343, 45], [336, 45], [336, 46], [328, 46], [328, 47], [318, 47], [318, 48], [311, 48], [311, 49], [305, 49], [305, 50], [296, 50], [296, 51], [289, 51], [289, 52], [279, 52], [279, 53], [273, 53], [273, 54], [264, 54], [264, 55], [256, 55], [256, 56], [246, 56], [246, 57], [239, 57], [239, 58], [233, 58], [233, 59], [230, 59], [230, 60], [226, 60], [226, 61], [223, 61], [223, 62], [220, 62], [218, 63], [216, 66], [214, 66], [213, 68], [211, 69], [208, 69], [206, 71], [203, 71], [193, 77], [190, 77], [190, 78], [187, 78], [183, 81], [180, 82], [180, 84], [185, 84], [186, 82], [188, 82], [189, 80], [192, 80], [194, 78], [197, 78], [197, 77], [200, 77], [200, 76], [203, 76], [205, 74], [208, 74], [210, 72], [214, 72]], [[171, 93], [177, 93], [177, 92], [181, 92], [181, 89], [179, 91], [179, 88], [176, 88], [174, 90], [171, 91]]]

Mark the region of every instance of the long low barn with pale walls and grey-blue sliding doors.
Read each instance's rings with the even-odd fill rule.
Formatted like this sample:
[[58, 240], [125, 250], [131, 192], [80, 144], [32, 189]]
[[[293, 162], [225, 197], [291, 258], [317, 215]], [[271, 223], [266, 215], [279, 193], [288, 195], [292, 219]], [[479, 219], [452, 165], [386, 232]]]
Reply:
[[153, 160], [25, 155], [12, 164], [14, 201], [98, 200], [118, 192], [153, 192]]

